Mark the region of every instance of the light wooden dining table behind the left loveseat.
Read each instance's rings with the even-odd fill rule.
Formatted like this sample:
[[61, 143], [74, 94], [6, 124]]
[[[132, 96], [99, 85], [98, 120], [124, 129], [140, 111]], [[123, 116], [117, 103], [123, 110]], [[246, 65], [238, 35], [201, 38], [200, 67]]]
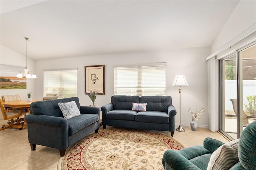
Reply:
[[27, 100], [16, 100], [16, 101], [4, 101], [4, 107], [11, 107], [11, 108], [27, 108], [28, 113], [30, 114], [30, 104], [34, 101], [40, 101], [38, 99], [34, 99], [32, 101]]

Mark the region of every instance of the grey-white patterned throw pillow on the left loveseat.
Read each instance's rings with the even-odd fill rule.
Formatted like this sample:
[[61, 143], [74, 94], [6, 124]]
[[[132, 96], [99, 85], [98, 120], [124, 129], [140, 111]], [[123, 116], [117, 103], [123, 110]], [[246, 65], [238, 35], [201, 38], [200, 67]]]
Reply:
[[70, 101], [68, 103], [58, 103], [60, 110], [64, 118], [70, 119], [80, 115], [80, 111], [76, 105], [75, 101]]

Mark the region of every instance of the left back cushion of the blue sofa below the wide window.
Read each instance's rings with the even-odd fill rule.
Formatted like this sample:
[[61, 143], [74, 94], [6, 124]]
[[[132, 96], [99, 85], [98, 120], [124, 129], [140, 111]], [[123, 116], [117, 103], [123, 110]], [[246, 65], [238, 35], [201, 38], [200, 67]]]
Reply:
[[132, 110], [132, 103], [139, 103], [139, 96], [115, 95], [111, 97], [114, 110]]

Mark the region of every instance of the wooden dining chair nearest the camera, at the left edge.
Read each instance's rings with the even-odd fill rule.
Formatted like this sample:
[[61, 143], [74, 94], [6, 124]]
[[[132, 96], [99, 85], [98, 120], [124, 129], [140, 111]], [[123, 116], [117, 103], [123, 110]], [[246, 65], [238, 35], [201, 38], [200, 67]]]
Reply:
[[0, 131], [7, 128], [19, 128], [20, 130], [26, 128], [26, 122], [24, 121], [24, 118], [17, 119], [17, 121], [14, 122], [15, 118], [21, 117], [22, 113], [25, 113], [23, 112], [24, 108], [14, 109], [9, 107], [4, 107], [4, 104], [1, 99], [0, 99], [0, 107], [1, 107], [4, 120], [10, 119], [10, 124], [2, 125], [2, 128], [0, 128]]

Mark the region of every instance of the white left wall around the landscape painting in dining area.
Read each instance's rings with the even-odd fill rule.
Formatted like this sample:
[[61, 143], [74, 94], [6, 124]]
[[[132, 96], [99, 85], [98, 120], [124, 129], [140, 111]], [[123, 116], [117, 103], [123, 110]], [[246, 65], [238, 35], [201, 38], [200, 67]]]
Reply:
[[[26, 50], [26, 49], [24, 49]], [[13, 51], [5, 47], [4, 45], [0, 46], [0, 63], [6, 65], [15, 65], [26, 67], [26, 56]], [[28, 57], [28, 69], [36, 73], [36, 62]], [[18, 74], [18, 73], [17, 73]], [[27, 89], [1, 89], [0, 97], [2, 95], [16, 95], [19, 94], [22, 100], [27, 98], [27, 92], [32, 93], [32, 98], [36, 98], [36, 79], [27, 79]], [[0, 116], [1, 119], [2, 113]]]

